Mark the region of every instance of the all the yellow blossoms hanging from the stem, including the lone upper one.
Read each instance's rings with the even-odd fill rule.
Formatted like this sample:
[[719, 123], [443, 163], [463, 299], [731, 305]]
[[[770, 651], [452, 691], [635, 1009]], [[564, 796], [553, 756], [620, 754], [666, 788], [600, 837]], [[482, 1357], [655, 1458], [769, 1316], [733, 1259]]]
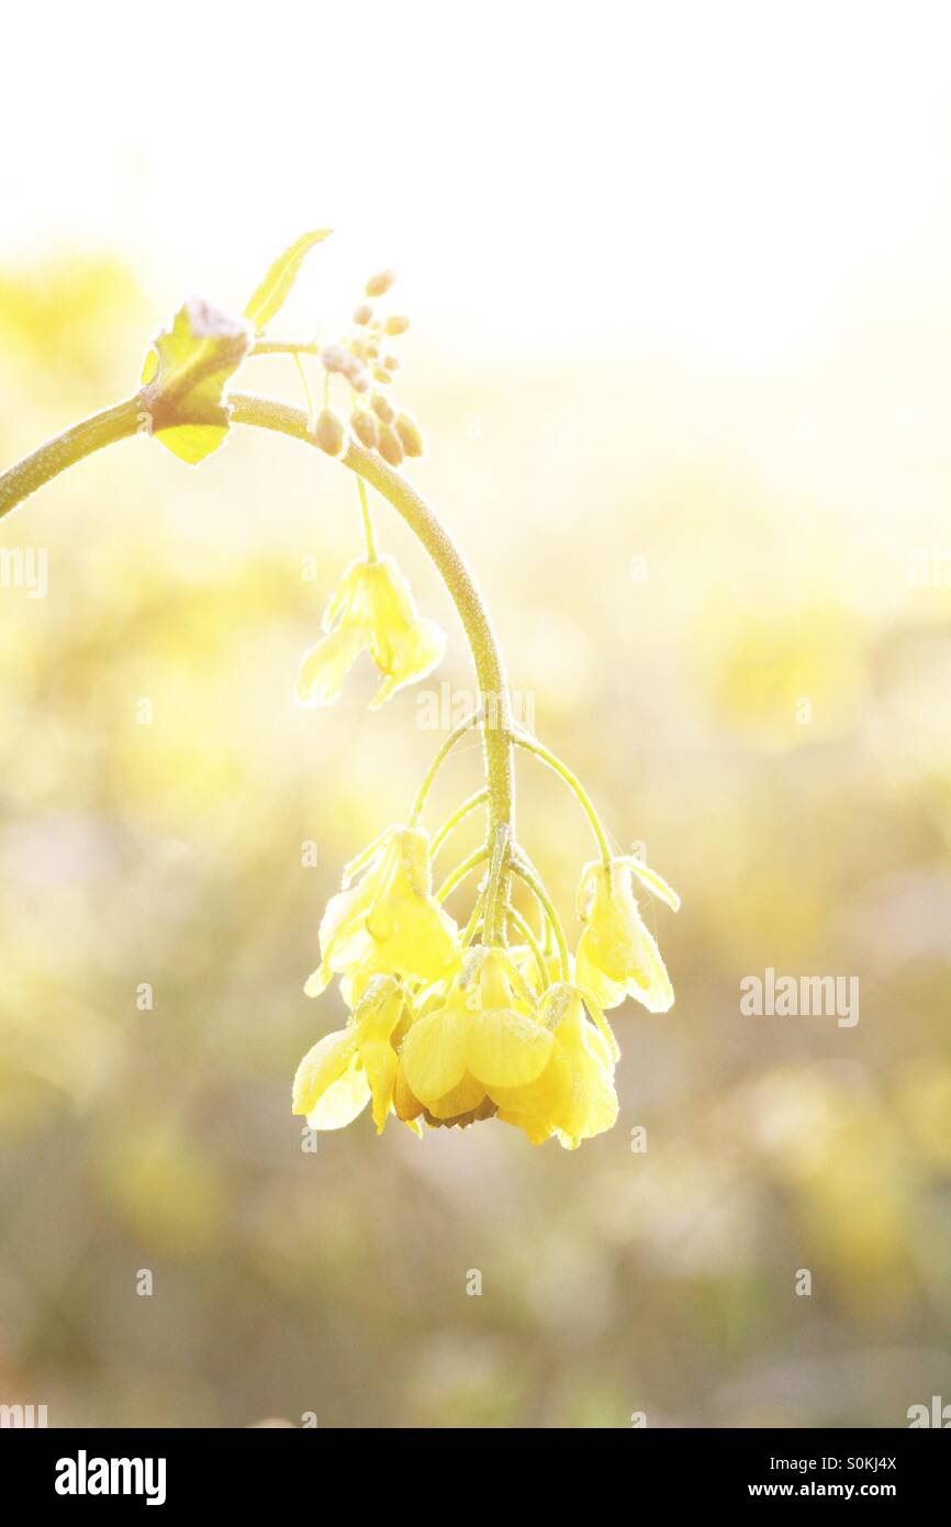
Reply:
[[[366, 649], [383, 673], [372, 701], [380, 705], [427, 673], [444, 644], [438, 628], [417, 614], [389, 557], [348, 568], [324, 629], [301, 664], [302, 704], [334, 701]], [[447, 837], [443, 831], [435, 849]], [[673, 909], [675, 892], [635, 858], [608, 854], [586, 866], [572, 959], [534, 870], [527, 883], [537, 890], [540, 931], [507, 899], [502, 935], [490, 938], [484, 919], [498, 889], [490, 887], [492, 870], [461, 931], [434, 895], [434, 841], [414, 817], [388, 828], [343, 872], [342, 890], [321, 922], [321, 964], [305, 991], [318, 997], [337, 977], [351, 1014], [301, 1061], [295, 1112], [327, 1130], [350, 1124], [369, 1106], [379, 1132], [394, 1115], [417, 1133], [423, 1125], [498, 1118], [536, 1145], [556, 1138], [568, 1148], [611, 1128], [620, 1052], [604, 1009], [626, 996], [652, 1012], [673, 1003], [633, 881]], [[472, 867], [487, 858], [476, 855]], [[510, 867], [517, 870], [519, 863], [516, 852]], [[447, 887], [461, 878], [450, 875]], [[508, 889], [504, 893], [508, 898]]]

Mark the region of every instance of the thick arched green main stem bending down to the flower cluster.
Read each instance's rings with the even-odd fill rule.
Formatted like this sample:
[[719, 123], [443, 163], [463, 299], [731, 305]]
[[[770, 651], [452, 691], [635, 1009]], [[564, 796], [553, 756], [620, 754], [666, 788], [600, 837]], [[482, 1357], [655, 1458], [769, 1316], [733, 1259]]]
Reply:
[[[295, 345], [293, 348], [304, 347]], [[304, 409], [249, 392], [234, 392], [229, 397], [229, 405], [230, 417], [237, 425], [273, 429], [316, 447], [316, 441], [307, 429], [308, 420]], [[38, 487], [43, 487], [44, 483], [49, 483], [50, 478], [64, 472], [66, 467], [92, 455], [93, 450], [147, 431], [148, 414], [137, 397], [127, 399], [124, 403], [75, 425], [0, 476], [0, 518], [29, 498]], [[514, 777], [508, 678], [488, 611], [469, 563], [429, 504], [382, 457], [353, 443], [343, 457], [343, 466], [376, 487], [403, 516], [426, 547], [455, 602], [472, 647], [484, 716], [482, 748], [488, 785], [490, 837], [492, 841], [502, 841], [502, 837], [505, 841], [511, 841], [514, 834]], [[498, 889], [505, 892], [510, 873], [508, 851], [501, 858], [498, 873]], [[493, 939], [502, 933], [507, 895], [498, 895], [496, 887], [490, 887], [488, 901], [492, 912], [485, 931], [488, 939]]]

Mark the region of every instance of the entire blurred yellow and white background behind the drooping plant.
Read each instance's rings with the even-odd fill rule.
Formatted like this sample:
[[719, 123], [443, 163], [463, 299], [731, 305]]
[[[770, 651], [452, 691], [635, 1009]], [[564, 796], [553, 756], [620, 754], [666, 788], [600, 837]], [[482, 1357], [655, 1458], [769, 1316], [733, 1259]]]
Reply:
[[[0, 461], [304, 229], [337, 232], [275, 333], [394, 264], [412, 478], [540, 736], [681, 890], [678, 1000], [615, 1014], [621, 1116], [577, 1153], [368, 1118], [304, 1153], [290, 1078], [343, 1014], [302, 996], [319, 916], [441, 733], [415, 690], [371, 716], [363, 664], [293, 702], [359, 550], [336, 463], [249, 431], [197, 470], [147, 440], [84, 463], [0, 525], [47, 567], [0, 591], [0, 1402], [907, 1425], [951, 1402], [946, 11], [253, 26], [8, 23]], [[287, 359], [241, 385], [299, 400]], [[379, 530], [452, 634], [423, 687], [469, 692], [432, 570]], [[430, 825], [478, 782], [459, 750]], [[519, 818], [574, 935], [591, 846], [531, 760]], [[858, 976], [858, 1025], [742, 1015], [768, 967]]]

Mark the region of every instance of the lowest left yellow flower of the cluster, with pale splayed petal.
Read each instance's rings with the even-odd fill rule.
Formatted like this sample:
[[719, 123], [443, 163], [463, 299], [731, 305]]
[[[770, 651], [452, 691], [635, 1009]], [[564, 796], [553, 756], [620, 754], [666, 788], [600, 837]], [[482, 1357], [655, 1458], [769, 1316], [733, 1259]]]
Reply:
[[325, 1034], [307, 1052], [293, 1084], [293, 1112], [314, 1130], [340, 1130], [372, 1098], [377, 1133], [392, 1107], [405, 996], [392, 976], [374, 976], [345, 1029]]

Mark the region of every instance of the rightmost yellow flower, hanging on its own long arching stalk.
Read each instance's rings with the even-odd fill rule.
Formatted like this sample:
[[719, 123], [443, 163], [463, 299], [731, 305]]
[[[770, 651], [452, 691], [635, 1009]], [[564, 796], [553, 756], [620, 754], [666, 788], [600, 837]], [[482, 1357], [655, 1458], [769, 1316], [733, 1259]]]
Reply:
[[673, 986], [641, 921], [633, 875], [675, 912], [679, 907], [676, 892], [640, 860], [588, 864], [579, 887], [579, 918], [586, 927], [579, 941], [577, 982], [601, 1008], [617, 1008], [629, 996], [650, 1012], [666, 1012], [673, 1005]]

